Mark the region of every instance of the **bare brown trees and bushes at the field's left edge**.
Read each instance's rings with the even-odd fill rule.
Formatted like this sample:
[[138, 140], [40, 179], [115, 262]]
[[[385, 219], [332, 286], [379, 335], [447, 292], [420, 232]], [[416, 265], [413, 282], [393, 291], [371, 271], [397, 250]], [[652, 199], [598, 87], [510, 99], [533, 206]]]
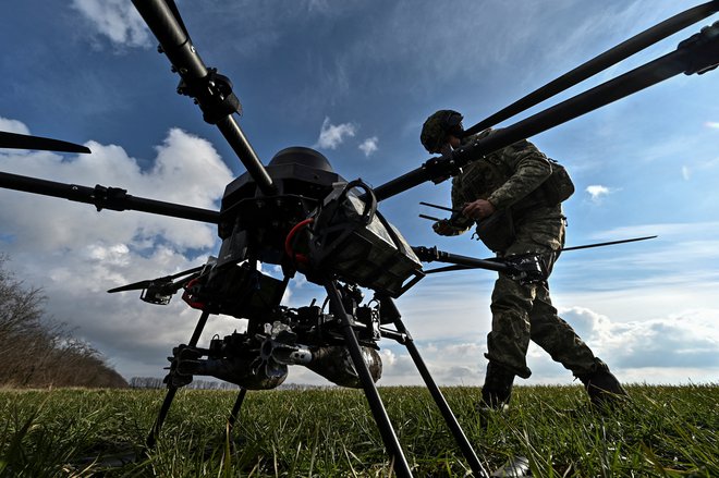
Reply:
[[0, 387], [127, 387], [97, 350], [46, 316], [42, 290], [17, 280], [7, 262], [0, 254]]

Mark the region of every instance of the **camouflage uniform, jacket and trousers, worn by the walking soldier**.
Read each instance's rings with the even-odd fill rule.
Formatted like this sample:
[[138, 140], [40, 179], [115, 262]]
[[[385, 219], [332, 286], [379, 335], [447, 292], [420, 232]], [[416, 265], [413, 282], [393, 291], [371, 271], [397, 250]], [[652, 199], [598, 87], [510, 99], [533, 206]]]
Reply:
[[[486, 131], [478, 136], [489, 134]], [[489, 200], [496, 212], [476, 223], [477, 236], [498, 257], [541, 253], [551, 271], [559, 249], [564, 245], [564, 217], [561, 205], [548, 206], [543, 200], [540, 186], [550, 172], [550, 162], [543, 152], [527, 140], [517, 142], [472, 162], [454, 177], [453, 208], [462, 209], [464, 204], [476, 199]], [[474, 223], [466, 217], [452, 220], [458, 234]], [[575, 376], [606, 368], [569, 323], [557, 315], [546, 281], [521, 284], [500, 272], [491, 296], [491, 312], [486, 356], [490, 365], [495, 364], [495, 369], [528, 378], [532, 373], [526, 365], [529, 340]]]

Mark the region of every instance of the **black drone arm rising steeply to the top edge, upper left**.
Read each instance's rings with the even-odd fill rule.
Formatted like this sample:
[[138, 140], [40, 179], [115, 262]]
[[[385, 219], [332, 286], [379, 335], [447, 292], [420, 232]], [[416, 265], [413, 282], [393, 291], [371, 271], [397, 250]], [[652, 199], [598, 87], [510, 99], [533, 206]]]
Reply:
[[266, 195], [275, 194], [272, 179], [232, 117], [242, 110], [232, 93], [232, 83], [217, 70], [205, 66], [176, 8], [169, 7], [166, 0], [133, 0], [133, 3], [160, 42], [160, 51], [168, 56], [173, 71], [181, 76], [178, 93], [195, 99], [205, 121], [217, 125], [260, 191]]

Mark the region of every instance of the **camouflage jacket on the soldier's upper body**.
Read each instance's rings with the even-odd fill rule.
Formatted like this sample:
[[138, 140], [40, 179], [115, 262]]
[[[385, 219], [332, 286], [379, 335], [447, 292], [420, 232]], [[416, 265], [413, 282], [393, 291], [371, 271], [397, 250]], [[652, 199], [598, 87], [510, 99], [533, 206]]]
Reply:
[[[463, 144], [492, 134], [486, 130]], [[497, 212], [477, 222], [477, 235], [492, 250], [502, 250], [511, 241], [514, 222], [525, 212], [543, 206], [541, 183], [551, 174], [548, 158], [526, 139], [493, 151], [467, 164], [452, 180], [452, 208], [487, 199]], [[475, 221], [460, 216], [451, 221], [456, 234], [467, 231]], [[495, 237], [496, 236], [496, 237]]]

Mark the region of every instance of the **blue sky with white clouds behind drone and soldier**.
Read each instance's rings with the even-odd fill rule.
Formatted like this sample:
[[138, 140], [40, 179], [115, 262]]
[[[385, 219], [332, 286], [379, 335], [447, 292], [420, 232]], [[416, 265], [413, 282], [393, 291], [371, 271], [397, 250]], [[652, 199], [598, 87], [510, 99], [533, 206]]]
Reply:
[[[321, 151], [348, 180], [378, 186], [429, 156], [424, 120], [454, 109], [474, 124], [533, 89], [695, 2], [678, 0], [178, 1], [200, 57], [229, 76], [237, 118], [264, 163], [289, 146]], [[516, 119], [673, 51], [699, 24]], [[219, 132], [179, 96], [179, 77], [129, 0], [13, 2], [0, 19], [0, 131], [61, 138], [92, 155], [0, 149], [0, 170], [134, 196], [219, 209], [245, 170]], [[552, 299], [595, 354], [627, 383], [719, 381], [719, 72], [679, 75], [529, 139], [564, 164], [568, 246], [658, 238], [568, 252]], [[415, 246], [474, 257], [470, 234], [440, 237], [419, 201], [449, 205], [450, 184], [386, 199], [380, 211]], [[101, 211], [0, 191], [0, 253], [46, 308], [126, 379], [162, 377], [198, 314], [119, 285], [204, 263], [216, 228], [143, 212]], [[428, 268], [434, 265], [429, 265]], [[480, 385], [489, 296], [484, 270], [431, 274], [398, 301], [436, 381]], [[324, 292], [297, 278], [285, 304]], [[242, 330], [212, 317], [200, 344]], [[421, 384], [404, 347], [383, 340], [380, 385]], [[572, 382], [534, 344], [527, 384]], [[328, 383], [292, 367], [288, 382]]]

